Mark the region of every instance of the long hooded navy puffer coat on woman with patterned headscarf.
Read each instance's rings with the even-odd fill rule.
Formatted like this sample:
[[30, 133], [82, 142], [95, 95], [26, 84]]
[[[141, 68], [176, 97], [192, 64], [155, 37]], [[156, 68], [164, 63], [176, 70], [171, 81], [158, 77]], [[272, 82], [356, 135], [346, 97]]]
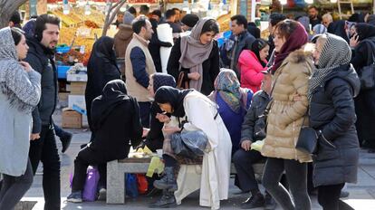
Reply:
[[333, 72], [312, 92], [310, 103], [310, 126], [322, 130], [313, 157], [314, 186], [357, 182], [360, 148], [353, 96], [360, 91], [361, 82], [349, 65]]

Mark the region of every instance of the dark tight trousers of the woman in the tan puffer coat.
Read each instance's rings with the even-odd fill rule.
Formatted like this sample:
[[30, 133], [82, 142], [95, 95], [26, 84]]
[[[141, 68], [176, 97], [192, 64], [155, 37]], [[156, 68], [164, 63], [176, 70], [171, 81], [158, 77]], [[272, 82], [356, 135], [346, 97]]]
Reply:
[[[280, 184], [285, 170], [285, 176], [293, 195]], [[265, 162], [262, 183], [265, 189], [274, 197], [276, 202], [285, 210], [310, 210], [311, 201], [307, 194], [307, 164], [293, 159], [268, 157]]]

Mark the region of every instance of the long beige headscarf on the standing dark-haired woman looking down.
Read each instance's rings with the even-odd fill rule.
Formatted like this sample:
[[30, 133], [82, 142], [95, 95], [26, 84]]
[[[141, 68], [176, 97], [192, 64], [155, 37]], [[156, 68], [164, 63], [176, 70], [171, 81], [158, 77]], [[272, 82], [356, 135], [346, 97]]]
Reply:
[[181, 37], [181, 57], [179, 63], [183, 68], [190, 69], [190, 72], [198, 72], [200, 78], [197, 81], [190, 80], [189, 88], [200, 91], [202, 88], [202, 63], [205, 62], [212, 51], [214, 41], [207, 44], [200, 43], [200, 34], [203, 25], [210, 19], [199, 20], [191, 30], [190, 35]]

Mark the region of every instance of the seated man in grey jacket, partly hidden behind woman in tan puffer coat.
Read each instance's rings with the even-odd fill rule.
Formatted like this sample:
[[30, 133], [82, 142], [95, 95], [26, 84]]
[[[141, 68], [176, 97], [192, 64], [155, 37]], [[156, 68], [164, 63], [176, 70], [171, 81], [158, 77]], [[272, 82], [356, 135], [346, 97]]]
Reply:
[[244, 192], [250, 192], [251, 196], [241, 204], [243, 209], [262, 207], [265, 209], [274, 209], [275, 203], [272, 197], [260, 193], [258, 183], [255, 179], [253, 164], [264, 159], [259, 151], [251, 149], [251, 144], [257, 140], [265, 138], [265, 119], [264, 110], [266, 109], [271, 91], [271, 73], [264, 71], [264, 80], [262, 81], [261, 91], [257, 91], [253, 97], [253, 102], [247, 111], [242, 124], [240, 146], [233, 156], [232, 160], [236, 167], [238, 186]]

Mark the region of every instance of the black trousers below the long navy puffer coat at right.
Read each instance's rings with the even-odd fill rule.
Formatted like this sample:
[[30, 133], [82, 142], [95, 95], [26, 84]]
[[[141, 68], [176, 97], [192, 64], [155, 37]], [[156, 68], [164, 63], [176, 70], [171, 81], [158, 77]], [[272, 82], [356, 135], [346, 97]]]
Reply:
[[345, 183], [331, 186], [318, 186], [318, 202], [323, 210], [350, 210], [350, 205], [340, 200], [341, 189]]

